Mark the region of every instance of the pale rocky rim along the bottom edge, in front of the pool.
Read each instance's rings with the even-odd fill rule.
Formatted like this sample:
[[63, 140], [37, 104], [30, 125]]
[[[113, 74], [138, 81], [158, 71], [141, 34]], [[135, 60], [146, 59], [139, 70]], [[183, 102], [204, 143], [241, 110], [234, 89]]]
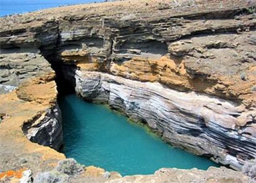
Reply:
[[[207, 173], [206, 173], [207, 172]], [[107, 181], [108, 183], [124, 183], [124, 182], [152, 182], [152, 183], [164, 183], [164, 182], [194, 182], [194, 183], [242, 183], [248, 182], [247, 177], [241, 174], [241, 172], [235, 172], [230, 169], [213, 168], [210, 167], [207, 171], [201, 171], [198, 169], [168, 169], [162, 168], [155, 172], [153, 175], [138, 175], [138, 176], [126, 176], [121, 179], [114, 179]], [[106, 182], [106, 183], [107, 183]]]

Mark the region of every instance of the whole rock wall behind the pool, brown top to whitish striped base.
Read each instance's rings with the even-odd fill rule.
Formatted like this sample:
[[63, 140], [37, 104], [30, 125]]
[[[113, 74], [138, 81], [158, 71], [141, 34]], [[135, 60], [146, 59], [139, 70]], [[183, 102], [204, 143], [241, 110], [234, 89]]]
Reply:
[[[239, 169], [255, 158], [255, 6], [202, 0], [59, 7], [1, 18], [0, 44], [12, 54], [40, 50], [49, 62], [64, 63], [64, 77], [83, 98]], [[34, 67], [19, 69], [33, 74]]]

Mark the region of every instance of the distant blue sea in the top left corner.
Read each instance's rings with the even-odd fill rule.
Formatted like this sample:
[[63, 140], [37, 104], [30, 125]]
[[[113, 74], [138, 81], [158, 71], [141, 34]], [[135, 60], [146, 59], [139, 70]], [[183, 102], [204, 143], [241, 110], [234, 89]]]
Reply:
[[71, 4], [102, 2], [103, 0], [0, 0], [0, 17], [10, 14], [23, 14], [49, 7]]

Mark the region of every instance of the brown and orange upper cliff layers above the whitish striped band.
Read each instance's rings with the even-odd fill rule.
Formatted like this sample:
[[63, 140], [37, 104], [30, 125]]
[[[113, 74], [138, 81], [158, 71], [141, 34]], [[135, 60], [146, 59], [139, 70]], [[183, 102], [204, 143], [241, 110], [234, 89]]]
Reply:
[[85, 70], [255, 105], [255, 1], [157, 2], [5, 17], [0, 42], [2, 48], [38, 48], [52, 61]]

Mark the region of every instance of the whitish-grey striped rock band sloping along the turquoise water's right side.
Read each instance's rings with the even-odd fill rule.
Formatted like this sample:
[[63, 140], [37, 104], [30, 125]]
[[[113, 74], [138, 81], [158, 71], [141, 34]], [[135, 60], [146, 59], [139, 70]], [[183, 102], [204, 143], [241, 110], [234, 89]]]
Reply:
[[237, 169], [256, 156], [255, 127], [246, 125], [254, 111], [243, 104], [101, 72], [77, 70], [75, 77], [82, 98], [108, 103], [135, 121], [146, 122], [177, 147]]

